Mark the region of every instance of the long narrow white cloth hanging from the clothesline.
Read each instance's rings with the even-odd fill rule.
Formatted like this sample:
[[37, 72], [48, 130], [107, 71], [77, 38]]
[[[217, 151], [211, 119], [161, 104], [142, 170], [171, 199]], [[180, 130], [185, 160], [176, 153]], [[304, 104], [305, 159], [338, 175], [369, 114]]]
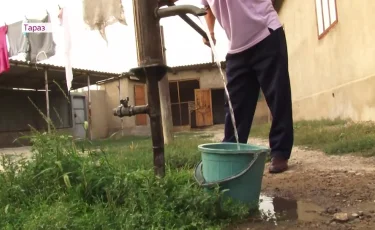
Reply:
[[69, 15], [71, 15], [69, 6], [65, 6], [64, 8], [60, 9], [59, 19], [60, 19], [60, 24], [63, 26], [63, 29], [64, 29], [65, 78], [66, 78], [66, 85], [68, 87], [68, 91], [70, 91], [70, 89], [72, 88], [72, 81], [73, 81], [73, 69], [72, 69], [72, 61], [71, 61], [72, 38], [70, 34]]

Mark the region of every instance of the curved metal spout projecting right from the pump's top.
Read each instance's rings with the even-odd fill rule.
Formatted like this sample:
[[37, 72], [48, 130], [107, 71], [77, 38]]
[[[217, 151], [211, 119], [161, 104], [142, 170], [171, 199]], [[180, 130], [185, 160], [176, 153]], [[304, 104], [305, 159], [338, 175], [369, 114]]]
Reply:
[[161, 8], [156, 10], [157, 18], [166, 18], [182, 14], [192, 14], [194, 16], [204, 16], [206, 15], [206, 10], [192, 6], [192, 5], [178, 5], [178, 6], [169, 6], [166, 8]]

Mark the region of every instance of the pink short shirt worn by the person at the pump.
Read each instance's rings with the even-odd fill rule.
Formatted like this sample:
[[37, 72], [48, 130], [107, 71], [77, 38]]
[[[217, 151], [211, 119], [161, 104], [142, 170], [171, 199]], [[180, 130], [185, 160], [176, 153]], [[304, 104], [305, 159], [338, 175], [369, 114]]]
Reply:
[[256, 45], [281, 27], [272, 0], [201, 0], [210, 6], [229, 40], [228, 53], [239, 53]]

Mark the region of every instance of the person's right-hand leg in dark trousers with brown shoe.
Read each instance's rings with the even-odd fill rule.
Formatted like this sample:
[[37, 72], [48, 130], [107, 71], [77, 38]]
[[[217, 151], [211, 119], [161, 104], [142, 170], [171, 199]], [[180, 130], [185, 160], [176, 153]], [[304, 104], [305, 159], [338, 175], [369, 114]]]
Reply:
[[272, 114], [269, 134], [271, 147], [270, 172], [283, 172], [293, 146], [293, 115], [288, 71], [288, 52], [283, 28], [271, 35], [254, 50], [253, 69]]

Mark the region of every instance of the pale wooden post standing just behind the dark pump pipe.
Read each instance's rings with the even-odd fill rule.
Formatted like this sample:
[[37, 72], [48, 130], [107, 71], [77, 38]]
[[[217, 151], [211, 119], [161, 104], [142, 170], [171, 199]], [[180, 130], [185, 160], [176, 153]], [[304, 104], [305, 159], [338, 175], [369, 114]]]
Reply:
[[[163, 48], [163, 61], [167, 64], [167, 57], [165, 55], [165, 40], [164, 40], [164, 29], [160, 26], [161, 44]], [[160, 93], [160, 107], [161, 107], [161, 119], [163, 123], [163, 135], [164, 144], [171, 144], [173, 142], [173, 119], [172, 119], [172, 108], [171, 108], [171, 96], [169, 92], [169, 81], [168, 76], [163, 77], [159, 81], [159, 93]]]

